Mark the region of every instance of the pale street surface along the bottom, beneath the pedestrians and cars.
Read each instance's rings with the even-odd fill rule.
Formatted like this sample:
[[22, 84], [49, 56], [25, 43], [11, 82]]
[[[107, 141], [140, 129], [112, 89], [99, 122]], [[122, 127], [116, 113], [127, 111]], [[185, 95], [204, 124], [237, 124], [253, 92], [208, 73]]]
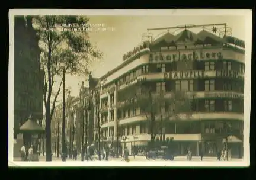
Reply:
[[[97, 158], [97, 156], [94, 156], [94, 157], [95, 157], [95, 159]], [[43, 161], [45, 161], [45, 158], [46, 158], [45, 156], [40, 156], [39, 161], [43, 162]], [[119, 158], [114, 157], [114, 158], [109, 158], [108, 160], [109, 161], [121, 161], [122, 158], [121, 157], [119, 157]], [[129, 156], [129, 160], [130, 160], [130, 162], [132, 162], [132, 161], [136, 161], [136, 162], [138, 162], [138, 161], [150, 161], [150, 162], [163, 161], [163, 159], [155, 159], [155, 160], [149, 159], [148, 160], [148, 159], [146, 159], [145, 156], [135, 156], [135, 158], [133, 156]], [[20, 161], [20, 158], [14, 158], [14, 161]], [[55, 162], [56, 161], [62, 161], [62, 159], [60, 157], [57, 158], [57, 157], [53, 156], [52, 161], [55, 161]], [[73, 161], [73, 159], [67, 158], [66, 161]], [[77, 157], [77, 161], [81, 161], [81, 156]], [[187, 161], [187, 157], [186, 156], [177, 156], [177, 157], [174, 158], [174, 161]], [[194, 157], [192, 157], [192, 161], [201, 161], [201, 157], [194, 156]], [[203, 157], [203, 161], [207, 161], [207, 162], [217, 161], [217, 157]], [[232, 159], [229, 159], [229, 161], [241, 162], [242, 159], [232, 158]]]

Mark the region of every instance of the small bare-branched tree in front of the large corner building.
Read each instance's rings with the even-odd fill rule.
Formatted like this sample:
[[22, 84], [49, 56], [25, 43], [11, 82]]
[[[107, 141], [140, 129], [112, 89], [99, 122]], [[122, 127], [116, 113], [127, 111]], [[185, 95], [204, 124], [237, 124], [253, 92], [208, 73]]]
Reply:
[[180, 114], [190, 114], [190, 99], [185, 92], [176, 91], [168, 98], [165, 92], [153, 93], [151, 89], [142, 87], [139, 99], [142, 113], [146, 116], [146, 124], [150, 134], [149, 149], [154, 147], [155, 137], [163, 133], [165, 122], [178, 120]]

